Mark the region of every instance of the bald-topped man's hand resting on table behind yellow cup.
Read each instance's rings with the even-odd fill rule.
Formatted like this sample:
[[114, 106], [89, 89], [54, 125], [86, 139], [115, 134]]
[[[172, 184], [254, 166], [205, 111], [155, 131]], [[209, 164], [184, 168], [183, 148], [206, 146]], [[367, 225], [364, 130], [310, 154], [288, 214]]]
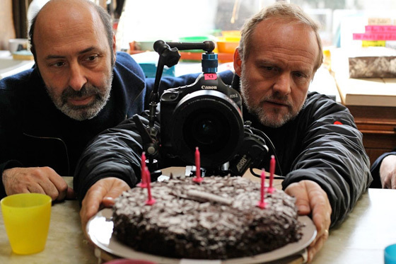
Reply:
[[8, 168], [3, 172], [7, 195], [16, 193], [43, 193], [52, 200], [73, 199], [73, 189], [50, 167]]

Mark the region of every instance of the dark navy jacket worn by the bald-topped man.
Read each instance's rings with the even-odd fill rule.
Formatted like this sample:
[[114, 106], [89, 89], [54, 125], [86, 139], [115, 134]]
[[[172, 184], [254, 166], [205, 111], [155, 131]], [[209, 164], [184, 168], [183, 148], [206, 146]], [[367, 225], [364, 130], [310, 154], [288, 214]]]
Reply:
[[[47, 95], [37, 68], [0, 80], [0, 177], [6, 168], [50, 166], [73, 176], [78, 157], [90, 139], [147, 107], [153, 79], [131, 56], [117, 52], [110, 99], [90, 120], [64, 115]], [[168, 80], [192, 83], [196, 75]], [[0, 180], [0, 197], [6, 196]]]

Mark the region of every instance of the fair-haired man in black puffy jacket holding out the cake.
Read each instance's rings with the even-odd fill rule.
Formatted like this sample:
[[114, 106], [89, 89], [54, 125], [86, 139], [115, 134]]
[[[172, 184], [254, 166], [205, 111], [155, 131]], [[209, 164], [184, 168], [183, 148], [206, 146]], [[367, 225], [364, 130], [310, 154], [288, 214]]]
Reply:
[[[243, 97], [243, 119], [271, 139], [274, 151], [269, 154], [279, 158], [276, 173], [284, 177], [282, 187], [318, 230], [308, 261], [372, 180], [362, 134], [349, 110], [327, 96], [308, 93], [321, 64], [318, 25], [285, 2], [245, 23], [234, 54], [233, 88]], [[123, 122], [100, 134], [81, 155], [74, 187], [83, 198], [83, 227], [98, 210], [95, 201], [103, 198], [88, 190], [95, 180], [117, 177], [130, 186], [139, 180], [142, 149], [136, 133], [132, 120]], [[269, 159], [260, 168], [268, 170]]]

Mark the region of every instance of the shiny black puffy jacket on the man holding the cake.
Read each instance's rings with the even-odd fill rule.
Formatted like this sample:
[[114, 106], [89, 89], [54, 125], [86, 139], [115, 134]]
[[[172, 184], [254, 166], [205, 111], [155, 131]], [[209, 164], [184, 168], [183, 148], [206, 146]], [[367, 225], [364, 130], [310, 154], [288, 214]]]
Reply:
[[[238, 84], [234, 81], [235, 88]], [[329, 197], [332, 226], [342, 222], [372, 180], [362, 134], [349, 110], [327, 96], [309, 93], [298, 116], [282, 127], [264, 127], [245, 108], [243, 118], [252, 121], [252, 126], [267, 134], [274, 144], [284, 176], [283, 188], [301, 180], [315, 181]], [[147, 124], [146, 119], [141, 120]], [[136, 185], [140, 180], [141, 144], [131, 119], [100, 134], [83, 152], [76, 168], [78, 199], [83, 199], [93, 183], [108, 176]], [[260, 168], [268, 170], [269, 155]]]

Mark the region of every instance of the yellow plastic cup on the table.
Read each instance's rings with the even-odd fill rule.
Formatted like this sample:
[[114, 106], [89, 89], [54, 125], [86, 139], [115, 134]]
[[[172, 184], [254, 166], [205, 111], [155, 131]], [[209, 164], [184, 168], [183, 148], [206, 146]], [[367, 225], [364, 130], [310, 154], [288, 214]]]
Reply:
[[51, 197], [21, 193], [1, 199], [4, 226], [14, 253], [28, 255], [43, 251], [51, 219]]

